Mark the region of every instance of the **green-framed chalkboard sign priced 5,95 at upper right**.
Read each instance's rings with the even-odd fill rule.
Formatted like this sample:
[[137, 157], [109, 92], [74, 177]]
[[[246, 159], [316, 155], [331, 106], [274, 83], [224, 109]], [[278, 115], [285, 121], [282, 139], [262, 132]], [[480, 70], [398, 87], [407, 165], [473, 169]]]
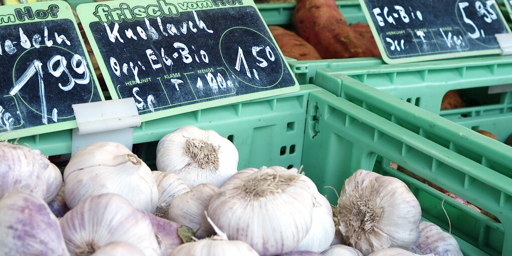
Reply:
[[500, 54], [510, 33], [494, 0], [359, 1], [388, 63]]

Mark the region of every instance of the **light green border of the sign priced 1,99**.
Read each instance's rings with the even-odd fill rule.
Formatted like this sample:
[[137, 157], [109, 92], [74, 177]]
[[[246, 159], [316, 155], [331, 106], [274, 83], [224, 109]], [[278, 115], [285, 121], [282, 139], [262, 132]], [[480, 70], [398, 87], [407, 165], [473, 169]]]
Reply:
[[[58, 17], [53, 18], [51, 16], [48, 16], [45, 19], [33, 19], [33, 20], [25, 20], [23, 22], [13, 22], [8, 24], [2, 24], [0, 25], [0, 29], [3, 25], [13, 25], [13, 24], [24, 24], [24, 23], [34, 23], [38, 21], [48, 21], [48, 20], [56, 20], [56, 19], [70, 19], [73, 24], [75, 25], [75, 31], [78, 34], [78, 38], [80, 39], [80, 44], [82, 46], [83, 52], [85, 53], [85, 57], [87, 58], [88, 63], [91, 63], [91, 58], [89, 57], [89, 54], [87, 53], [86, 45], [83, 42], [83, 38], [80, 34], [80, 30], [78, 29], [78, 26], [75, 21], [75, 15], [73, 14], [72, 7], [65, 1], [56, 0], [56, 1], [48, 1], [48, 2], [38, 2], [38, 3], [29, 3], [29, 4], [17, 4], [17, 5], [6, 5], [6, 6], [0, 6], [0, 14], [5, 15], [8, 13], [14, 13], [15, 9], [24, 8], [24, 7], [31, 7], [33, 10], [37, 9], [48, 9], [50, 5], [57, 5], [59, 7]], [[89, 72], [91, 72], [91, 77], [94, 79], [94, 82], [96, 84], [96, 90], [98, 90], [101, 100], [105, 100], [103, 96], [103, 92], [101, 91], [98, 78], [96, 77], [96, 73], [94, 72], [94, 69], [92, 65], [89, 65]], [[68, 130], [68, 129], [74, 129], [78, 127], [75, 120], [72, 121], [65, 121], [65, 122], [57, 122], [57, 123], [49, 123], [44, 125], [38, 125], [34, 127], [28, 127], [25, 129], [19, 129], [19, 130], [13, 130], [13, 131], [7, 131], [0, 133], [0, 140], [10, 140], [10, 139], [16, 139], [16, 138], [22, 138], [26, 136], [32, 136], [32, 135], [38, 135], [38, 134], [45, 134], [45, 133], [51, 133], [56, 131], [62, 131], [62, 130]]]

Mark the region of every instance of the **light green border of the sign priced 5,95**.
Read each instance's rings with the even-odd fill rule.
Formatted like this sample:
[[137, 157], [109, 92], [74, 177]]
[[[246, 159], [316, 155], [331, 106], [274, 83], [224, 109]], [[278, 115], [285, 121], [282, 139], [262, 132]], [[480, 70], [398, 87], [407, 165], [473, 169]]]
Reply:
[[[504, 0], [504, 1], [507, 1], [507, 0]], [[392, 1], [388, 1], [388, 2], [392, 2]], [[375, 41], [377, 42], [377, 47], [379, 48], [380, 55], [382, 56], [382, 59], [388, 64], [409, 63], [409, 62], [418, 62], [418, 61], [426, 61], [426, 60], [449, 59], [449, 58], [457, 58], [457, 57], [469, 57], [469, 56], [503, 53], [503, 50], [501, 50], [501, 49], [489, 49], [489, 50], [478, 50], [478, 51], [467, 51], [467, 52], [441, 53], [441, 54], [425, 55], [425, 56], [418, 56], [418, 57], [404, 57], [404, 58], [395, 58], [395, 59], [389, 58], [387, 55], [386, 46], [384, 46], [382, 44], [382, 42], [380, 41], [379, 34], [377, 32], [375, 24], [373, 23], [372, 16], [370, 14], [370, 11], [368, 10], [365, 0], [359, 0], [359, 3], [361, 5], [362, 11], [365, 13], [368, 24], [370, 25], [370, 29], [372, 30], [373, 37], [375, 38]], [[498, 4], [495, 2], [494, 5], [496, 7], [496, 10], [498, 10], [499, 19], [501, 20], [503, 25], [507, 28], [508, 33], [510, 33], [510, 28], [508, 27], [508, 24], [507, 24], [505, 18], [503, 17], [503, 14], [501, 13]]]

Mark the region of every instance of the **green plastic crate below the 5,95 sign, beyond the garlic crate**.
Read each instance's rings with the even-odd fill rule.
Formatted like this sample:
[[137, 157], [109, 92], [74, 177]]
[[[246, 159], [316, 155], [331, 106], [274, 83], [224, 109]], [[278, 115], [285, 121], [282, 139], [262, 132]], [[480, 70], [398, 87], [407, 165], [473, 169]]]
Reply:
[[[512, 135], [512, 92], [487, 95], [489, 87], [510, 84], [512, 56], [429, 61], [364, 68], [319, 69], [315, 81], [340, 95], [341, 85], [324, 82], [347, 75], [473, 130], [486, 130], [504, 142]], [[463, 90], [478, 99], [465, 108], [440, 110], [444, 94]]]

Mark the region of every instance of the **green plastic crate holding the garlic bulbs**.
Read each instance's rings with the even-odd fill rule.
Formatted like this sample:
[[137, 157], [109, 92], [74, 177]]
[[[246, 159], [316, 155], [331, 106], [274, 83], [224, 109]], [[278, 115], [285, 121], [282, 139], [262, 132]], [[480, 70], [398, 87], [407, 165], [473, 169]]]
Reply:
[[[493, 159], [488, 155], [494, 152], [479, 150], [475, 143], [469, 142], [485, 144], [490, 139], [469, 134], [462, 126], [438, 120], [439, 116], [419, 108], [406, 111], [408, 103], [349, 77], [346, 79], [351, 81], [344, 83], [344, 95], [348, 99], [307, 84], [296, 93], [144, 122], [135, 129], [134, 152], [154, 166], [155, 147], [161, 137], [182, 125], [196, 125], [217, 131], [237, 146], [239, 169], [303, 165], [304, 172], [333, 204], [335, 193], [325, 186], [340, 190], [344, 180], [358, 168], [398, 177], [420, 201], [423, 218], [447, 229], [440, 207], [444, 195], [390, 168], [389, 163], [393, 161], [502, 220], [498, 223], [446, 198], [443, 207], [451, 217], [452, 233], [465, 255], [510, 255], [505, 253], [510, 251], [505, 241], [512, 244], [507, 231], [511, 230], [512, 221], [509, 216], [512, 173], [497, 172], [498, 168], [489, 164]], [[369, 102], [362, 103], [365, 101], [354, 95]], [[372, 104], [381, 105], [382, 109]], [[424, 118], [417, 118], [418, 115]], [[453, 146], [445, 147], [432, 139], [450, 130], [458, 137], [453, 142], [446, 141]], [[28, 143], [48, 155], [66, 154], [71, 151], [70, 136], [69, 131], [57, 132], [23, 138], [19, 143]], [[463, 143], [459, 138], [466, 138], [467, 151], [480, 154], [482, 162], [460, 154]], [[496, 157], [505, 161], [510, 158], [510, 151]], [[510, 170], [510, 162], [504, 166]]]

